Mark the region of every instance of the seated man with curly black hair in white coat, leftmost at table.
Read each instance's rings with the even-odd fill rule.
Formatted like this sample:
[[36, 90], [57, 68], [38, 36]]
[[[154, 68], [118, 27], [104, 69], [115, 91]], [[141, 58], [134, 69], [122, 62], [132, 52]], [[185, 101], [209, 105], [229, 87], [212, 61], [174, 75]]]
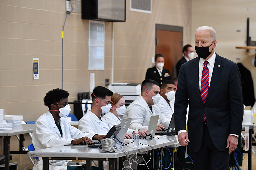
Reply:
[[[70, 125], [65, 117], [71, 111], [68, 104], [69, 93], [62, 89], [53, 89], [44, 97], [44, 105], [49, 111], [41, 115], [35, 123], [32, 133], [32, 143], [35, 150], [58, 147], [69, 144], [92, 143], [92, 135], [83, 133]], [[50, 170], [82, 170], [84, 166], [70, 167], [70, 160], [49, 160]], [[34, 170], [42, 170], [42, 159], [39, 157]], [[93, 167], [92, 169], [102, 169]]]

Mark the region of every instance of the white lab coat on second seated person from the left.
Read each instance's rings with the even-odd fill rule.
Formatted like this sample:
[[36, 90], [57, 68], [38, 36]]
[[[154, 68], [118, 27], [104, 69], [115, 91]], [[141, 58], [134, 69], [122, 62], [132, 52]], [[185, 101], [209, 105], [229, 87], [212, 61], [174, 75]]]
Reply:
[[79, 120], [78, 129], [92, 136], [95, 134], [106, 135], [112, 125], [103, 117], [101, 117], [101, 120], [93, 112], [87, 110], [86, 114]]

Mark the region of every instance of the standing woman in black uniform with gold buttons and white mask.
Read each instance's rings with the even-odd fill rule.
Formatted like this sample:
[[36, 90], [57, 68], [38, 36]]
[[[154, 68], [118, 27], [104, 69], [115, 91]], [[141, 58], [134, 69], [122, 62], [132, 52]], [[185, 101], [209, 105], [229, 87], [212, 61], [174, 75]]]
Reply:
[[155, 67], [149, 68], [146, 72], [145, 80], [155, 80], [161, 85], [165, 80], [171, 80], [171, 73], [164, 67], [164, 56], [162, 54], [155, 55]]

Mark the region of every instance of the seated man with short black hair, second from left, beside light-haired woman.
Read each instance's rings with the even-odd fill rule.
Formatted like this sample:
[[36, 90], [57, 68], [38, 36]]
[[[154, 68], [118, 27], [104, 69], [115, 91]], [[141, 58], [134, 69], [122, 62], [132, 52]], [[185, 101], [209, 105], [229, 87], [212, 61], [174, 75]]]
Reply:
[[[86, 114], [79, 120], [78, 129], [82, 132], [90, 133], [93, 135], [93, 140], [102, 140], [105, 138], [107, 132], [112, 128], [101, 114], [107, 114], [112, 107], [111, 90], [97, 86], [92, 92], [92, 109], [87, 110]], [[129, 137], [132, 136], [129, 134]]]

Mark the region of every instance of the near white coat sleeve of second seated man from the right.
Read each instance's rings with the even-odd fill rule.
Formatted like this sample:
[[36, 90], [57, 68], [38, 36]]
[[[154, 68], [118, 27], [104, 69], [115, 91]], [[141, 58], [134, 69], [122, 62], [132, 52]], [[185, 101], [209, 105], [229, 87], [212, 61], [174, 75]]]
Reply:
[[[134, 104], [133, 107], [129, 108], [128, 117], [123, 117], [123, 119], [132, 118], [129, 129], [136, 129], [136, 126], [139, 130], [148, 129], [148, 125], [147, 126], [143, 125], [144, 117], [145, 117], [145, 111], [142, 107], [140, 107], [140, 106], [136, 107], [136, 105], [137, 104]], [[126, 109], [126, 111], [127, 111], [127, 109]]]

